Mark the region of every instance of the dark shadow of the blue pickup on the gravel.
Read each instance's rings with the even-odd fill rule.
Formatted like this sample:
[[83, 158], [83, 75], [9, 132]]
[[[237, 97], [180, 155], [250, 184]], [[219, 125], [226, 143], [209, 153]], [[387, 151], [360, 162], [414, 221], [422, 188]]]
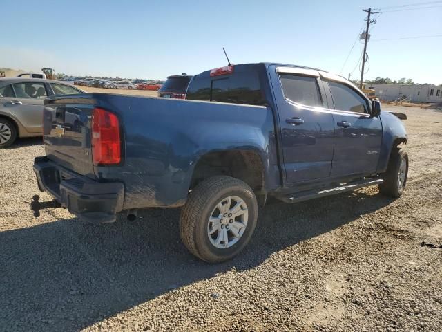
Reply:
[[[179, 210], [150, 210], [134, 222], [89, 225], [64, 219], [0, 233], [0, 326], [77, 331], [174, 288], [231, 268], [247, 270], [390, 203], [353, 192], [260, 210], [249, 246], [224, 264], [205, 264], [180, 241]], [[217, 289], [208, 289], [207, 297]], [[42, 318], [44, 317], [44, 318]]]

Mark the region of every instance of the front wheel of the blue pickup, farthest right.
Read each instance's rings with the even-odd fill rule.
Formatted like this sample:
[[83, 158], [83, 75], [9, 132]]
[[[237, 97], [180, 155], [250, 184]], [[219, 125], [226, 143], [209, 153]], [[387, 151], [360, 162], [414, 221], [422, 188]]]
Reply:
[[394, 198], [401, 197], [407, 184], [408, 154], [405, 149], [393, 149], [387, 166], [387, 172], [383, 174], [384, 183], [379, 185], [379, 192], [385, 196]]

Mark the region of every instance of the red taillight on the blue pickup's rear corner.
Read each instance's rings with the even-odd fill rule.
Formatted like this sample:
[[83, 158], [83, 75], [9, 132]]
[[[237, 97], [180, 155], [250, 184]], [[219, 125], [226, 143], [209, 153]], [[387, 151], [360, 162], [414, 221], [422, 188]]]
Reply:
[[92, 157], [94, 165], [119, 164], [122, 160], [121, 151], [117, 116], [96, 107], [92, 115]]

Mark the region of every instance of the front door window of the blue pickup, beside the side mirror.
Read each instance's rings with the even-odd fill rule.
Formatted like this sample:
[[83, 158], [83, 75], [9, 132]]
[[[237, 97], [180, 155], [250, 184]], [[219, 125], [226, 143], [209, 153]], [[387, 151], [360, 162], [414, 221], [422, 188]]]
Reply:
[[368, 113], [367, 100], [345, 84], [329, 81], [334, 108], [340, 111]]

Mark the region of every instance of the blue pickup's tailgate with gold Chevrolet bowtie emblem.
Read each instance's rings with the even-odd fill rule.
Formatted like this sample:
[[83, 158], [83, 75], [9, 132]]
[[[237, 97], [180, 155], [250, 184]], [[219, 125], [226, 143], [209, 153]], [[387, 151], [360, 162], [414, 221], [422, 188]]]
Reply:
[[92, 113], [90, 95], [47, 98], [43, 125], [46, 156], [62, 167], [95, 178], [91, 151]]

